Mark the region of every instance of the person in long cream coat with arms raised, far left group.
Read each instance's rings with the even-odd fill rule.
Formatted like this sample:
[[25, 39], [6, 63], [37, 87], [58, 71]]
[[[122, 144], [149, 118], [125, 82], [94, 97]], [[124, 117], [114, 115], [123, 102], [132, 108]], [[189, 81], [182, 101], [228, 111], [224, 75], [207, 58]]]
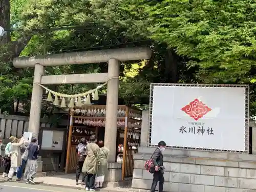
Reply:
[[18, 139], [16, 137], [12, 137], [11, 139], [11, 165], [10, 170], [8, 173], [8, 181], [12, 180], [12, 177], [14, 173], [16, 172], [17, 168], [20, 166], [22, 162], [22, 156], [20, 155], [20, 146], [23, 145], [23, 142], [20, 140], [18, 142]]

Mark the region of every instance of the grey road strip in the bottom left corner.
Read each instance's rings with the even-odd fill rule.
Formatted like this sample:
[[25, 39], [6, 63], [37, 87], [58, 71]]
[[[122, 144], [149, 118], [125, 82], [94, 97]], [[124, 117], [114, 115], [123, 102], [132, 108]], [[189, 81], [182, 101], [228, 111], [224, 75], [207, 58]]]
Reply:
[[[77, 192], [77, 189], [31, 185], [18, 182], [1, 182], [0, 192]], [[82, 191], [82, 190], [80, 190]]]

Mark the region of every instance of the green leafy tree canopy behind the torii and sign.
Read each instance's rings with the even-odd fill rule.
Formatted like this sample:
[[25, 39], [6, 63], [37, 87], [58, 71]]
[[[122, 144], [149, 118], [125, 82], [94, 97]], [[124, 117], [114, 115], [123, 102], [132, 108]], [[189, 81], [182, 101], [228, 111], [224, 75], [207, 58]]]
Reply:
[[[0, 1], [0, 26], [15, 29], [0, 41], [4, 110], [31, 94], [32, 69], [13, 68], [14, 57], [148, 46], [150, 60], [121, 63], [120, 96], [127, 102], [148, 97], [150, 82], [249, 83], [251, 115], [256, 113], [252, 0]], [[106, 70], [101, 63], [47, 68], [47, 74]], [[90, 86], [57, 89], [77, 93]]]

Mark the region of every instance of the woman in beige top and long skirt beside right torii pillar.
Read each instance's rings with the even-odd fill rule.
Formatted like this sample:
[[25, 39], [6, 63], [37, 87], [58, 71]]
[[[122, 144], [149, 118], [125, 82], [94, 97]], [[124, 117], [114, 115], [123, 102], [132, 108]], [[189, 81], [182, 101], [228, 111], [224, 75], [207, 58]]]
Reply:
[[100, 148], [100, 153], [95, 188], [102, 188], [106, 172], [108, 172], [109, 149], [104, 146], [103, 141], [99, 141], [98, 146]]

